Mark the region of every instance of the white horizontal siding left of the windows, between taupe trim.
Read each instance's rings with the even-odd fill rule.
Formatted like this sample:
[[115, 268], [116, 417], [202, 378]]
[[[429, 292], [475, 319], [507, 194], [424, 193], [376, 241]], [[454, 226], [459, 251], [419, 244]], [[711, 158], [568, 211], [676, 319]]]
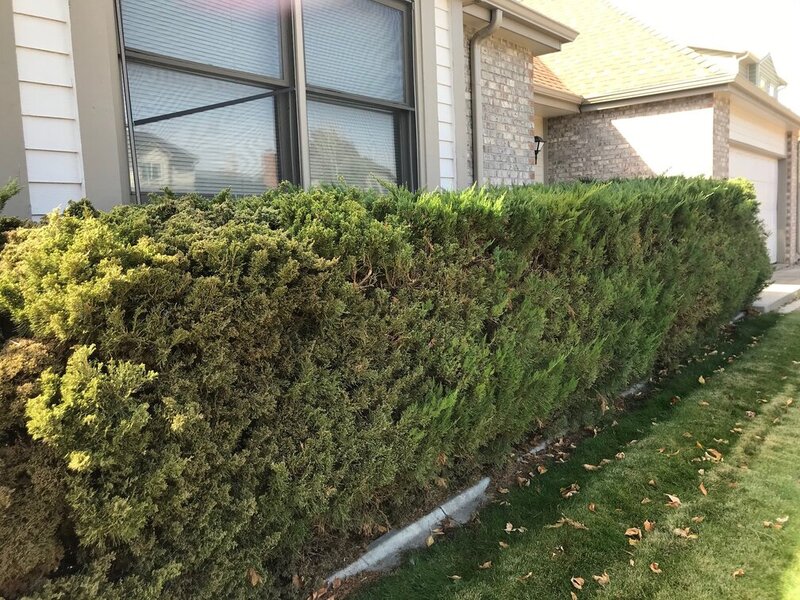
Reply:
[[68, 0], [13, 0], [31, 214], [83, 197]]

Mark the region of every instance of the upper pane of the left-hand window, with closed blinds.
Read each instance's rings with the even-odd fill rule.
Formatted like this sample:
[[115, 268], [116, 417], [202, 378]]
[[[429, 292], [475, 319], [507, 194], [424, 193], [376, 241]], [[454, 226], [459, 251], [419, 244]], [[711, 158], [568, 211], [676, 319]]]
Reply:
[[123, 0], [125, 45], [281, 76], [279, 0]]

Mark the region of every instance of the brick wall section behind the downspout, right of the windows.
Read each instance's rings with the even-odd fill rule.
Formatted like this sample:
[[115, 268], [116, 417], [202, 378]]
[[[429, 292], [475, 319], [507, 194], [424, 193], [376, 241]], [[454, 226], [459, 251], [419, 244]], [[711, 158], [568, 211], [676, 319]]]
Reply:
[[[472, 177], [472, 98], [469, 41], [476, 29], [464, 27], [467, 99], [467, 163]], [[485, 40], [481, 51], [483, 80], [484, 176], [490, 183], [532, 183], [533, 54], [500, 39]]]

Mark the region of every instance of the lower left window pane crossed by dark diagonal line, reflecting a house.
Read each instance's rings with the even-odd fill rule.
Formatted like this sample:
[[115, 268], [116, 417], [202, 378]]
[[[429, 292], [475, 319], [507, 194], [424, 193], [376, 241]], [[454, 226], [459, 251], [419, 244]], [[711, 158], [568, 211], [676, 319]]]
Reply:
[[[128, 75], [134, 123], [269, 91], [138, 63]], [[278, 184], [272, 98], [135, 125], [134, 139], [144, 192], [250, 194]]]

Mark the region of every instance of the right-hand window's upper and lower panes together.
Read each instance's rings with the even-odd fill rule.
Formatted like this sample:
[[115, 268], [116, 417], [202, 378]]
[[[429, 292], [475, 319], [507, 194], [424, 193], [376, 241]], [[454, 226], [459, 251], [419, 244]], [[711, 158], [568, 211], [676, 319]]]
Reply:
[[411, 185], [409, 4], [304, 0], [313, 183]]

